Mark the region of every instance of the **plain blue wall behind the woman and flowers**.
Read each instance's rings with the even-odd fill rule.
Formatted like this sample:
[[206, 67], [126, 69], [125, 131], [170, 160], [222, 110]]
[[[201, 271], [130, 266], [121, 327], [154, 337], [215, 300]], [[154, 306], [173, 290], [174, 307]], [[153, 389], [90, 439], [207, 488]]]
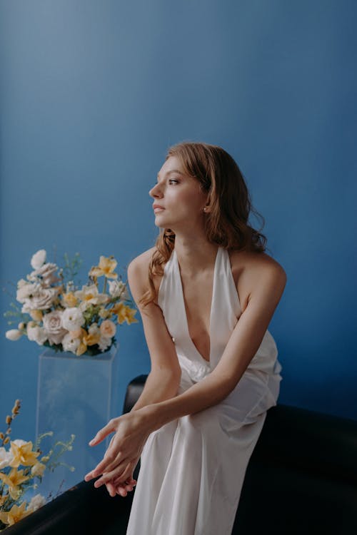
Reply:
[[[166, 149], [216, 143], [288, 275], [269, 327], [280, 401], [357, 419], [356, 14], [348, 0], [2, 1], [1, 286], [39, 248], [79, 251], [84, 276], [102, 254], [125, 268], [156, 238]], [[119, 342], [120, 412], [149, 357], [141, 323]], [[0, 343], [1, 413], [20, 397], [16, 429], [33, 436], [40, 347]]]

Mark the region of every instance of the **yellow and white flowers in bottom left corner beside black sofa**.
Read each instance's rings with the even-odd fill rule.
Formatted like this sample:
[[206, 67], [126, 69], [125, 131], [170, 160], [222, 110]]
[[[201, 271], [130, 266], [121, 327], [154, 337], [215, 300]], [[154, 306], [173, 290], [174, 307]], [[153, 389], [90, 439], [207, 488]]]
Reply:
[[[69, 442], [56, 442], [46, 455], [43, 455], [39, 445], [44, 437], [53, 435], [51, 431], [41, 434], [35, 445], [21, 439], [11, 441], [10, 426], [19, 414], [20, 407], [21, 402], [16, 399], [11, 415], [6, 416], [7, 429], [0, 432], [0, 531], [36, 511], [51, 499], [51, 494], [46, 498], [36, 494], [27, 502], [24, 495], [29, 489], [37, 488], [38, 484], [34, 483], [34, 480], [37, 478], [41, 483], [45, 470], [53, 472], [59, 464], [68, 467], [58, 459], [66, 450], [72, 449], [75, 438], [72, 434]], [[7, 444], [10, 444], [10, 447], [6, 450]], [[59, 449], [55, 450], [56, 447]], [[74, 471], [74, 467], [69, 469]]]

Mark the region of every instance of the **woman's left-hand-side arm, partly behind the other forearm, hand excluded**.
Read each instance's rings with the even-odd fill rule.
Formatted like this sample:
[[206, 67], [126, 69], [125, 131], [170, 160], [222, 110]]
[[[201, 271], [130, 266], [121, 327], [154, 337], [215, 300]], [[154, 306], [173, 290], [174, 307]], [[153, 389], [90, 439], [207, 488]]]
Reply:
[[[129, 287], [137, 305], [146, 290], [151, 253], [152, 250], [146, 251], [135, 258], [128, 267]], [[181, 379], [181, 368], [178, 365], [175, 345], [167, 330], [160, 307], [151, 302], [144, 309], [139, 305], [138, 308], [151, 357], [151, 372], [132, 411], [176, 396]]]

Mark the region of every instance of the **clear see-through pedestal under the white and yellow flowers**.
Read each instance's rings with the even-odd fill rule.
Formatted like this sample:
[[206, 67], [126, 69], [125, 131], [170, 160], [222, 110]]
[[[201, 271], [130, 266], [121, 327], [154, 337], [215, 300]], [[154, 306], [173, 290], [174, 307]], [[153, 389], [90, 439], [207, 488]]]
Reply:
[[111, 417], [120, 415], [116, 407], [116, 365], [114, 346], [95, 356], [77, 357], [51, 348], [39, 355], [36, 440], [41, 434], [53, 432], [53, 436], [41, 440], [39, 447], [44, 454], [50, 449], [57, 454], [66, 449], [64, 444], [72, 434], [75, 438], [71, 449], [54, 459], [60, 464], [53, 471], [46, 469], [36, 492], [55, 497], [82, 481], [103, 459], [112, 434], [94, 447], [88, 443]]

